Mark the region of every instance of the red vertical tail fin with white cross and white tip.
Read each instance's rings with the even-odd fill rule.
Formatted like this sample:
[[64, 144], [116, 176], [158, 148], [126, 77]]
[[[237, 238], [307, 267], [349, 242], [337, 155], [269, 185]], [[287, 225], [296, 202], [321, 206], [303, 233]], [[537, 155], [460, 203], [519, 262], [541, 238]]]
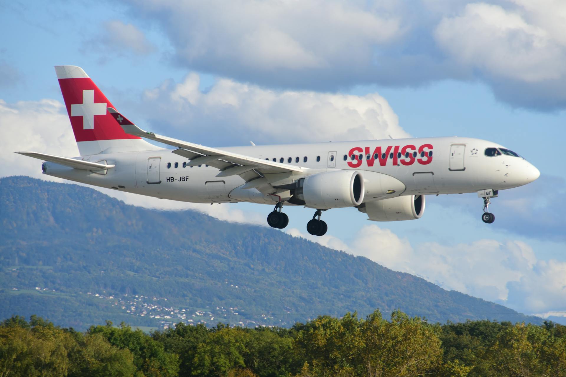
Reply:
[[113, 104], [82, 68], [57, 65], [55, 72], [77, 142], [139, 139], [125, 133], [106, 111]]

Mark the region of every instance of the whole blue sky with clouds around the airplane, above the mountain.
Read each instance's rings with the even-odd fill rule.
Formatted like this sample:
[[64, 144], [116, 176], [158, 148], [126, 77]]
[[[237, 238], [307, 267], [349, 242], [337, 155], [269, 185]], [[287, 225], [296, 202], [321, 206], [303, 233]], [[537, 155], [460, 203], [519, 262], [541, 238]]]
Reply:
[[[418, 221], [328, 211], [329, 234], [316, 241], [520, 312], [566, 311], [565, 14], [560, 0], [3, 3], [0, 174], [39, 176], [13, 150], [76, 151], [60, 64], [83, 67], [141, 126], [213, 146], [388, 133], [488, 139], [541, 170], [531, 185], [500, 192], [491, 226], [473, 194], [428, 196]], [[280, 129], [288, 132], [276, 137]], [[189, 207], [251, 223], [271, 210]], [[286, 212], [286, 231], [308, 237], [312, 211]]]

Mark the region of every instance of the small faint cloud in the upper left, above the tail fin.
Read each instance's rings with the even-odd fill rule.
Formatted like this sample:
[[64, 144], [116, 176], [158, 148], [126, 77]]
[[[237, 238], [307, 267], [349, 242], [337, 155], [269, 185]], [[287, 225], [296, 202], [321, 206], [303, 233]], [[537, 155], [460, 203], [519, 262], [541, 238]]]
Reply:
[[145, 34], [132, 24], [110, 20], [104, 23], [102, 29], [104, 31], [100, 36], [84, 43], [83, 51], [90, 52], [95, 49], [115, 56], [128, 54], [143, 56], [151, 54], [156, 49], [155, 45], [147, 40]]

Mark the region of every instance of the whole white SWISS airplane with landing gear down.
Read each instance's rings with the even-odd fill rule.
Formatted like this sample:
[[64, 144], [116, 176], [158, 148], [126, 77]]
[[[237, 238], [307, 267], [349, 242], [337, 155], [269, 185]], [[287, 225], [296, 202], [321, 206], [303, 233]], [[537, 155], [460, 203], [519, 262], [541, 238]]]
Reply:
[[211, 148], [140, 129], [80, 67], [55, 72], [80, 156], [16, 152], [44, 160], [43, 174], [192, 203], [270, 204], [267, 223], [278, 229], [289, 223], [284, 205], [315, 209], [307, 231], [322, 236], [328, 209], [356, 208], [372, 221], [416, 220], [426, 195], [465, 192], [483, 198], [482, 221], [492, 223], [490, 199], [540, 175], [508, 148], [464, 137]]

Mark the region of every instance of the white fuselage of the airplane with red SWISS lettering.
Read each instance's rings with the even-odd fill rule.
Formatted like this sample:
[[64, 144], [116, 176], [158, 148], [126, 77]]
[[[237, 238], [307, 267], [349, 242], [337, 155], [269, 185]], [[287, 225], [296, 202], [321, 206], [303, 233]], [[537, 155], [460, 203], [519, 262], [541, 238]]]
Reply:
[[[223, 149], [269, 161], [276, 159], [280, 162], [283, 159], [286, 164], [308, 168], [310, 173], [351, 169], [358, 170], [362, 175], [363, 172], [386, 174], [405, 186], [396, 195], [457, 194], [488, 188], [504, 190], [525, 185], [538, 178], [538, 170], [522, 157], [484, 155], [486, 148], [490, 147], [501, 146], [481, 139], [439, 137]], [[234, 190], [245, 183], [237, 175], [216, 177], [219, 170], [207, 165], [183, 168], [183, 163], [188, 163], [189, 160], [172, 151], [156, 147], [153, 151], [78, 157], [115, 165], [105, 172], [72, 169], [47, 162], [44, 163], [44, 173], [89, 185], [194, 203], [275, 203], [274, 199], [265, 199], [263, 195], [247, 195], [243, 198], [241, 193], [237, 194], [238, 191]], [[431, 155], [429, 152], [432, 152]], [[376, 154], [379, 155], [378, 159], [374, 159]], [[398, 158], [400, 154], [401, 157]], [[417, 156], [413, 157], [415, 154]], [[355, 156], [354, 160], [352, 155]], [[359, 155], [362, 155], [361, 160]], [[246, 191], [256, 190], [252, 188]]]

